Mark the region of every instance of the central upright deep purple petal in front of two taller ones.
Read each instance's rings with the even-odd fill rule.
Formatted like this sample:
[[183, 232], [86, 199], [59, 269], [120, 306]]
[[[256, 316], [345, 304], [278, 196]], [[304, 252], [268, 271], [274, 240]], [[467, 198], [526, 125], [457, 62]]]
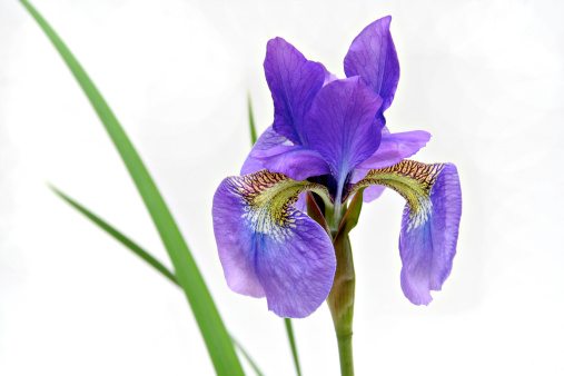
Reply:
[[329, 164], [336, 180], [372, 156], [380, 141], [374, 121], [382, 98], [358, 77], [333, 81], [317, 93], [307, 115], [307, 142]]

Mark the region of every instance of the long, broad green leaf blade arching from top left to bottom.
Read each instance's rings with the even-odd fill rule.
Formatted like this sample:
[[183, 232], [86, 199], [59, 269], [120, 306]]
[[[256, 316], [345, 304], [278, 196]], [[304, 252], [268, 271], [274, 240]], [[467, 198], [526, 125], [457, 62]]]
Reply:
[[106, 100], [59, 36], [27, 0], [20, 0], [20, 2], [59, 51], [118, 149], [175, 266], [176, 277], [188, 298], [216, 373], [229, 376], [244, 375], [231, 339], [206, 283], [139, 155]]

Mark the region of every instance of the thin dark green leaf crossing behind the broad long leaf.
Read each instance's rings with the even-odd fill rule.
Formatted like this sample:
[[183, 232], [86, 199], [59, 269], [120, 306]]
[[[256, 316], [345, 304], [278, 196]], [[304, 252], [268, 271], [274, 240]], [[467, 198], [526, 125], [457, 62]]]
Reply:
[[[76, 200], [73, 200], [72, 198], [70, 198], [69, 196], [67, 196], [66, 194], [63, 194], [58, 188], [53, 187], [50, 184], [47, 184], [47, 185], [49, 186], [49, 188], [53, 192], [56, 192], [60, 198], [62, 198], [65, 201], [67, 201], [70, 206], [72, 206], [75, 209], [77, 209], [78, 211], [80, 211], [81, 214], [83, 214], [88, 219], [90, 219], [91, 221], [93, 221], [102, 230], [105, 230], [106, 232], [108, 232], [109, 235], [111, 235], [116, 240], [118, 240], [123, 246], [126, 246], [127, 248], [129, 248], [133, 254], [136, 254], [141, 259], [144, 259], [145, 261], [147, 261], [150, 266], [152, 266], [157, 271], [159, 271], [165, 277], [167, 277], [177, 287], [180, 287], [180, 285], [178, 284], [178, 280], [176, 279], [176, 277], [172, 274], [172, 271], [170, 271], [166, 266], [164, 266], [162, 264], [160, 264], [159, 260], [157, 260], [148, 251], [146, 251], [145, 249], [142, 249], [140, 246], [138, 246], [133, 240], [131, 240], [126, 235], [123, 235], [118, 229], [116, 229], [113, 226], [111, 226], [110, 224], [108, 224], [107, 221], [105, 221], [103, 219], [101, 219], [100, 217], [98, 217], [96, 214], [93, 214], [92, 211], [90, 211], [89, 209], [87, 209], [86, 207], [83, 207], [82, 205], [80, 205], [79, 202], [77, 202]], [[239, 344], [239, 342], [237, 339], [235, 339], [235, 337], [232, 337], [232, 336], [229, 336], [229, 337], [231, 338], [231, 342], [234, 343], [235, 347], [237, 349], [239, 349], [239, 353], [241, 353], [241, 355], [245, 357], [245, 359], [247, 359], [247, 362], [253, 367], [253, 369], [255, 370], [255, 373], [257, 374], [257, 376], [263, 376], [263, 373], [258, 368], [257, 364], [255, 363], [255, 360], [253, 360], [253, 358], [247, 353], [247, 350], [245, 350], [245, 348], [241, 346], [241, 344]]]

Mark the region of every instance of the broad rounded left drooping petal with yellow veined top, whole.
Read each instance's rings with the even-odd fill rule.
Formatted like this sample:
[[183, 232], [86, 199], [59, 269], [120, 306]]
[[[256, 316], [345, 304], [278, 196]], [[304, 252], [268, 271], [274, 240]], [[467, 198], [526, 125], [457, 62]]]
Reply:
[[325, 300], [336, 260], [332, 241], [293, 207], [298, 195], [325, 187], [261, 170], [226, 178], [214, 196], [214, 231], [227, 285], [265, 297], [281, 317], [306, 317]]

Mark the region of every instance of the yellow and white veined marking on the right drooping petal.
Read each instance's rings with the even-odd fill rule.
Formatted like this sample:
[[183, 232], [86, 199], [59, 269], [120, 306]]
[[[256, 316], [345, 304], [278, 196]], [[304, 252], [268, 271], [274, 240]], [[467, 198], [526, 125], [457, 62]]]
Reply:
[[415, 160], [404, 159], [397, 165], [368, 171], [358, 181], [347, 197], [356, 194], [360, 188], [377, 185], [394, 189], [402, 195], [409, 206], [407, 231], [423, 226], [429, 218], [433, 202], [431, 191], [445, 164], [426, 165]]

